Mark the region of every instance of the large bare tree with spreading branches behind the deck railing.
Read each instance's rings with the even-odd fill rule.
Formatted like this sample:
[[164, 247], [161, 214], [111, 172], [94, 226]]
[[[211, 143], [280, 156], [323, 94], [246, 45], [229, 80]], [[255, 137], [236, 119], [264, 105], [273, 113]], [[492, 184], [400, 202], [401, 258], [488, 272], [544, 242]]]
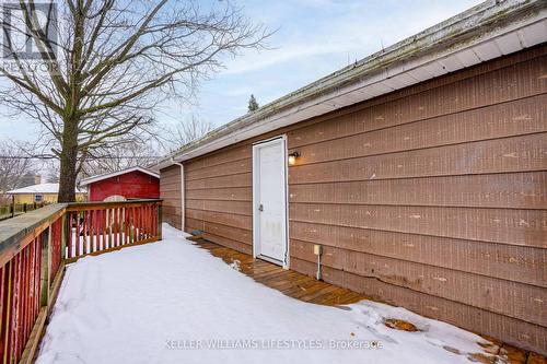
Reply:
[[[203, 3], [60, 0], [42, 9], [45, 21], [34, 1], [14, 7], [0, 102], [42, 122], [60, 161], [59, 201], [74, 200], [77, 175], [97, 150], [151, 133], [161, 103], [191, 97], [226, 57], [269, 35], [229, 1]], [[21, 38], [37, 49], [38, 67]]]

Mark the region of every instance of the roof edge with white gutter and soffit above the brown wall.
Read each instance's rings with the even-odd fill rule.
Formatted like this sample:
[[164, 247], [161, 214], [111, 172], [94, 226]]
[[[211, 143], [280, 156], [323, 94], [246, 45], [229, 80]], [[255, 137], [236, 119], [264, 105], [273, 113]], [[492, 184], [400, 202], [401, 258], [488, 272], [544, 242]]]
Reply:
[[164, 156], [214, 150], [547, 42], [547, 1], [488, 0], [342, 68]]

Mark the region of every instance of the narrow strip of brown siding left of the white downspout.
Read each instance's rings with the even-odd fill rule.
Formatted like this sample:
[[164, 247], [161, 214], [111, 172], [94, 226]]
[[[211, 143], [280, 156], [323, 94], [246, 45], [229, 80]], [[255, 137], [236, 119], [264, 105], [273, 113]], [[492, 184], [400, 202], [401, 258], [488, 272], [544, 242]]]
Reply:
[[178, 165], [160, 171], [160, 198], [163, 199], [162, 220], [176, 228], [183, 228]]

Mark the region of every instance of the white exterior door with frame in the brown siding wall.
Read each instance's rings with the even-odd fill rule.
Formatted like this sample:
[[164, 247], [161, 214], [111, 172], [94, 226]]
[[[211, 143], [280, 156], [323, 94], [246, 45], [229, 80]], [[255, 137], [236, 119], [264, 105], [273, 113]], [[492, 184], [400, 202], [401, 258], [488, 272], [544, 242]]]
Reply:
[[255, 257], [287, 265], [286, 140], [253, 146], [253, 245]]

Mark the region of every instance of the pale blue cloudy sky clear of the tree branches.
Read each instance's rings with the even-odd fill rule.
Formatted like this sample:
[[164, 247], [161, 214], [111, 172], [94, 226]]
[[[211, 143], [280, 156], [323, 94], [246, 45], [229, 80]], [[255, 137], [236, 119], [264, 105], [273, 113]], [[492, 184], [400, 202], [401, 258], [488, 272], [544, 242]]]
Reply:
[[[278, 30], [274, 49], [248, 51], [202, 82], [195, 105], [167, 105], [160, 122], [190, 114], [221, 126], [244, 115], [253, 93], [260, 105], [446, 20], [477, 0], [233, 1], [254, 21]], [[37, 125], [2, 117], [0, 138], [33, 140]]]

